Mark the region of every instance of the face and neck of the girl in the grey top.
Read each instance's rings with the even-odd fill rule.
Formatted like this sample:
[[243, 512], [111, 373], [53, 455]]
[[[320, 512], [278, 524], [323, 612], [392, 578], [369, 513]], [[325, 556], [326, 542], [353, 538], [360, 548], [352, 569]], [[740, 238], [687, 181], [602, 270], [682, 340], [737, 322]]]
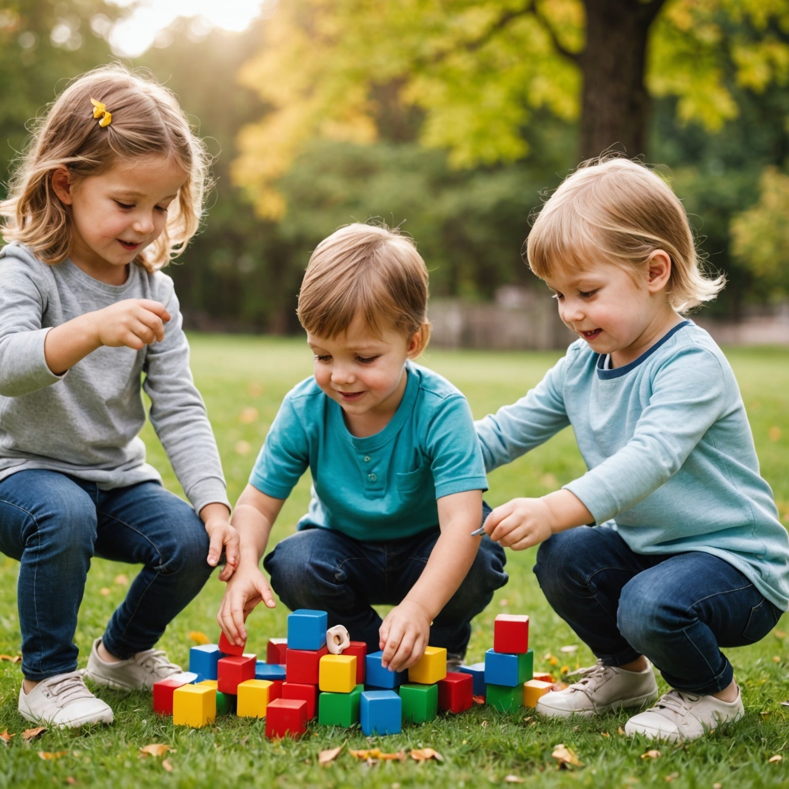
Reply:
[[71, 207], [72, 262], [101, 282], [125, 282], [126, 265], [162, 233], [185, 181], [183, 168], [167, 156], [119, 163], [73, 182], [62, 176], [58, 182], [56, 174], [55, 191]]

